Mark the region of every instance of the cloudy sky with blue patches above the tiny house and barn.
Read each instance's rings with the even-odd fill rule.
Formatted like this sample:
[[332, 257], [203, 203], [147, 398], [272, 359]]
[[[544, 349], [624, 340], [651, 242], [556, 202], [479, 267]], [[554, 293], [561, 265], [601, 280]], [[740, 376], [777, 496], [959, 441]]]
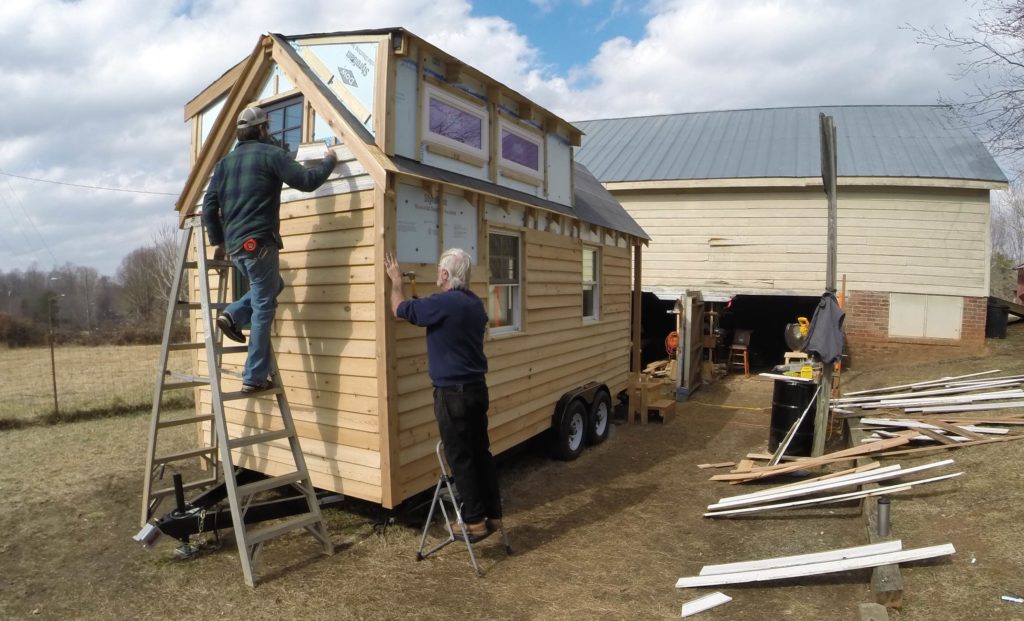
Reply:
[[174, 222], [183, 107], [285, 35], [404, 27], [568, 120], [934, 104], [970, 84], [900, 27], [968, 32], [971, 0], [6, 0], [0, 271], [113, 276]]

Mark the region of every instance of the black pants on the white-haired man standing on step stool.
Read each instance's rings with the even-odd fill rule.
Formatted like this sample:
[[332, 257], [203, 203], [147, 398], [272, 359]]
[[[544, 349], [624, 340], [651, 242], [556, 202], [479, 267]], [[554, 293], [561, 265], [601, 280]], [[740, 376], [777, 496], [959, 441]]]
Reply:
[[502, 516], [498, 470], [487, 438], [489, 405], [485, 382], [434, 386], [434, 416], [467, 524]]

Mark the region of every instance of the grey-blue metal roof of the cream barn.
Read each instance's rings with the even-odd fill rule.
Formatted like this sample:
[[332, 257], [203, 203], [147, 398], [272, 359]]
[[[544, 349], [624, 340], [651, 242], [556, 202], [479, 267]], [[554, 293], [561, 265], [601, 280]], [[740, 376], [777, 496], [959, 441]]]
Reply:
[[840, 176], [1007, 182], [941, 106], [837, 106], [580, 121], [575, 159], [602, 182], [821, 174], [818, 114], [833, 117]]

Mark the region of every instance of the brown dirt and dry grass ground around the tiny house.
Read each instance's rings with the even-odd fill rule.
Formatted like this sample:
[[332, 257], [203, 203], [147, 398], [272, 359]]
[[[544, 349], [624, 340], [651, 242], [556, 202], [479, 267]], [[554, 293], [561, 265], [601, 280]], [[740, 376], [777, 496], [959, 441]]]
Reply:
[[[987, 369], [1024, 373], [1024, 325], [989, 341], [984, 357], [844, 374], [854, 390]], [[712, 521], [705, 507], [759, 489], [708, 481], [698, 463], [765, 451], [770, 380], [731, 376], [679, 404], [669, 424], [617, 425], [573, 462], [527, 446], [501, 460], [506, 525], [477, 544], [416, 561], [422, 512], [350, 502], [327, 511], [337, 551], [317, 554], [295, 534], [271, 542], [264, 581], [244, 585], [233, 537], [190, 561], [163, 538], [131, 541], [148, 416], [0, 431], [0, 618], [4, 619], [670, 619], [684, 602], [722, 590], [730, 604], [706, 619], [856, 619], [872, 602], [869, 571], [708, 589], [676, 589], [706, 564], [820, 551], [867, 542], [856, 504]], [[1018, 411], [1019, 413], [1019, 411]], [[993, 414], [995, 415], [995, 414]], [[906, 458], [952, 457], [959, 479], [893, 499], [904, 547], [952, 543], [948, 558], [905, 565], [900, 621], [1024, 618], [1024, 538], [1019, 535], [1024, 442]]]

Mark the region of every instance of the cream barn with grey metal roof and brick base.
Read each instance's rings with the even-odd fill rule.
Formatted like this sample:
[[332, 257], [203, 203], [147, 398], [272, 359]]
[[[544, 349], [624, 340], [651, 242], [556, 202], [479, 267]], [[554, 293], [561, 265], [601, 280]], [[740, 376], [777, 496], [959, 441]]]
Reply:
[[941, 357], [983, 347], [989, 198], [1008, 182], [946, 108], [583, 121], [577, 161], [652, 233], [645, 294], [674, 300], [700, 291], [726, 329], [753, 328], [755, 355], [775, 364], [785, 323], [809, 317], [824, 288], [819, 113], [833, 117], [838, 134], [837, 274], [850, 354]]

